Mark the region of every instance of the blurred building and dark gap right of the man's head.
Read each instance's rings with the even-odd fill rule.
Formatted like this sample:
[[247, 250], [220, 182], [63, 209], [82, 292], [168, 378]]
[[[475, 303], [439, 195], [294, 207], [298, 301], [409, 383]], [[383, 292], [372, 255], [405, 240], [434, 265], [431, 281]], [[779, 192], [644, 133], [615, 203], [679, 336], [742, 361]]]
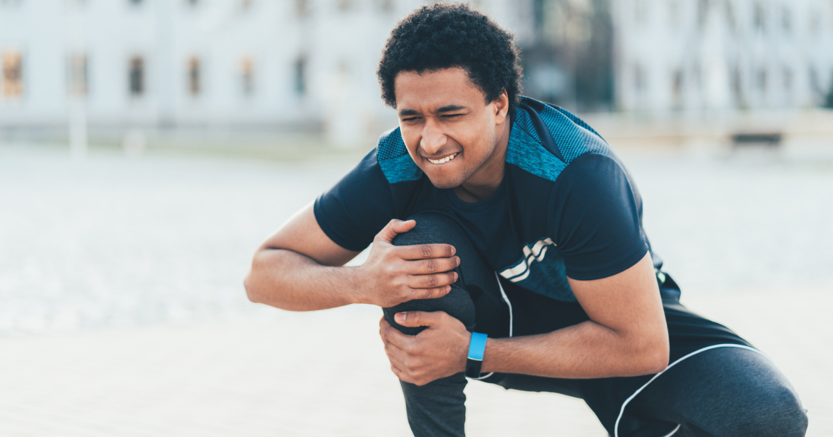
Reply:
[[581, 111], [833, 106], [829, 0], [535, 0], [526, 92]]

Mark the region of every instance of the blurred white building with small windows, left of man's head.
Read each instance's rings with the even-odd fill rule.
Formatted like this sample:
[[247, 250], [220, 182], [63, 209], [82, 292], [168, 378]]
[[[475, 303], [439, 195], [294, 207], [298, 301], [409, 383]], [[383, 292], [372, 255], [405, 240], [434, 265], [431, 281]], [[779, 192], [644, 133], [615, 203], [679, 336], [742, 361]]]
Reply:
[[[396, 118], [376, 78], [421, 0], [0, 0], [0, 129], [323, 129]], [[523, 38], [531, 11], [473, 2]]]

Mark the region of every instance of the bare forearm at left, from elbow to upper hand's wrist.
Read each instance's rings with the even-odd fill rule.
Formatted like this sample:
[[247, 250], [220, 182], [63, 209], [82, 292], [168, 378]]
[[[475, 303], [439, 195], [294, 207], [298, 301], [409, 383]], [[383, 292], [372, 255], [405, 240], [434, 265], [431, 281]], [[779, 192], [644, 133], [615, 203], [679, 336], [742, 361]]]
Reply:
[[264, 249], [244, 281], [253, 302], [283, 310], [312, 311], [357, 303], [357, 267], [322, 266], [295, 251]]

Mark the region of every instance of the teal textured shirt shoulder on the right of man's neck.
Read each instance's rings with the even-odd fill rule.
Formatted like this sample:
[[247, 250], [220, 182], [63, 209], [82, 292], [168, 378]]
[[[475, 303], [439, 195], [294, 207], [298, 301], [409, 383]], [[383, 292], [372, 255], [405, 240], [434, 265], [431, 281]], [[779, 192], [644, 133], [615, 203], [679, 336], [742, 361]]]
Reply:
[[577, 157], [612, 156], [607, 142], [590, 125], [564, 108], [521, 97], [506, 162], [549, 181]]

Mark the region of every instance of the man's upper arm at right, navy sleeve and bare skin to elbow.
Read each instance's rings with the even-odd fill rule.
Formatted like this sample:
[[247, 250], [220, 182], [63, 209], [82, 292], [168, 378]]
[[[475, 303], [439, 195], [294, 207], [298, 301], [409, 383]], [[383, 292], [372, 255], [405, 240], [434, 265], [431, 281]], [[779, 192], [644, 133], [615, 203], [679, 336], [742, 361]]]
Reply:
[[587, 154], [562, 172], [551, 226], [573, 295], [591, 320], [622, 333], [665, 335], [665, 317], [630, 181], [607, 156]]

